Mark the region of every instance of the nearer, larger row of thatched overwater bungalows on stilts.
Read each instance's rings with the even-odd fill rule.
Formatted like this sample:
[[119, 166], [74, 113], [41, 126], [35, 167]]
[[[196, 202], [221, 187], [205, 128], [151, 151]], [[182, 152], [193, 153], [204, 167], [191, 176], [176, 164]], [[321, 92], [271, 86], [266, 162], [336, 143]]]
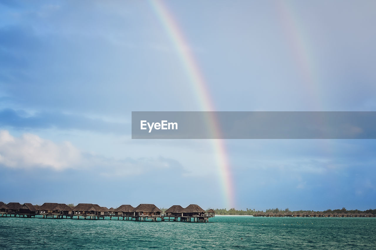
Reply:
[[191, 204], [186, 208], [174, 205], [162, 212], [154, 204], [140, 204], [135, 208], [131, 205], [121, 205], [118, 208], [106, 208], [97, 204], [79, 203], [77, 206], [68, 206], [64, 203], [44, 203], [41, 206], [32, 205], [31, 203], [10, 202], [5, 204], [0, 202], [0, 213], [2, 217], [34, 217], [35, 215], [42, 215], [42, 218], [73, 218], [77, 219], [100, 219], [109, 217], [123, 218], [126, 220], [157, 221], [161, 218], [162, 221], [188, 221], [188, 222], [208, 222], [209, 218], [214, 217], [215, 212], [213, 209], [205, 211], [200, 206]]

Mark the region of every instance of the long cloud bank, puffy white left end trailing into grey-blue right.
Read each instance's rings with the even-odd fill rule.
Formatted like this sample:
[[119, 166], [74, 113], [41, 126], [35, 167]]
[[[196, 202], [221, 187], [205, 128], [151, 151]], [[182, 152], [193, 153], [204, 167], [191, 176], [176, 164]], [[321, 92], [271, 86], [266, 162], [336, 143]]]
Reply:
[[179, 161], [171, 158], [126, 157], [117, 160], [80, 151], [70, 142], [57, 144], [35, 134], [23, 134], [17, 138], [7, 130], [0, 130], [0, 166], [17, 169], [90, 169], [108, 177], [155, 174], [165, 170], [186, 174]]

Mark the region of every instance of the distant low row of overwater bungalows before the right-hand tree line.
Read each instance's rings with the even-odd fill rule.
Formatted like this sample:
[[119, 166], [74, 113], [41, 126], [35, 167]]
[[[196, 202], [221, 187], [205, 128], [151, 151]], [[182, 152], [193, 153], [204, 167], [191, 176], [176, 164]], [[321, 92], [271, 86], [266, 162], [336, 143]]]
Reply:
[[323, 213], [323, 212], [278, 212], [274, 214], [273, 212], [256, 212], [253, 214], [255, 217], [376, 217], [371, 213]]

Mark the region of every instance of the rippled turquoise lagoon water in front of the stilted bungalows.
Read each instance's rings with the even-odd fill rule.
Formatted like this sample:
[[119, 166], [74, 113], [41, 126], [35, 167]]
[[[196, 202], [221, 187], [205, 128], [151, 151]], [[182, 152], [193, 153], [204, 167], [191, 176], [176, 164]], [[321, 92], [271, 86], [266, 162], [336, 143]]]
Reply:
[[15, 248], [376, 249], [376, 218], [216, 216], [184, 223], [0, 217], [0, 249]]

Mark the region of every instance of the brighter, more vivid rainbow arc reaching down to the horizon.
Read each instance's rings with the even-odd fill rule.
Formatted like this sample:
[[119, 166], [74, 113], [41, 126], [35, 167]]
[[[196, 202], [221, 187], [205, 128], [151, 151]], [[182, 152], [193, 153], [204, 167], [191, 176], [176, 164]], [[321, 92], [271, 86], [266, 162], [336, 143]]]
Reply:
[[[156, 14], [156, 17], [164, 27], [173, 44], [173, 47], [179, 56], [180, 62], [182, 63], [182, 66], [185, 69], [191, 84], [193, 85], [197, 99], [202, 106], [202, 110], [215, 111], [205, 78], [200, 71], [200, 68], [197, 66], [197, 62], [190, 50], [190, 46], [185, 39], [182, 30], [179, 28], [175, 18], [171, 12], [168, 11], [167, 6], [165, 6], [161, 0], [150, 0], [149, 3]], [[213, 138], [221, 138], [221, 131], [214, 112], [209, 112], [206, 119], [209, 131], [213, 133]], [[226, 203], [227, 207], [233, 208], [235, 207], [235, 193], [226, 146], [224, 144], [224, 140], [222, 139], [213, 139], [211, 142], [213, 152], [215, 154], [216, 166], [218, 167], [221, 178], [224, 202]]]

